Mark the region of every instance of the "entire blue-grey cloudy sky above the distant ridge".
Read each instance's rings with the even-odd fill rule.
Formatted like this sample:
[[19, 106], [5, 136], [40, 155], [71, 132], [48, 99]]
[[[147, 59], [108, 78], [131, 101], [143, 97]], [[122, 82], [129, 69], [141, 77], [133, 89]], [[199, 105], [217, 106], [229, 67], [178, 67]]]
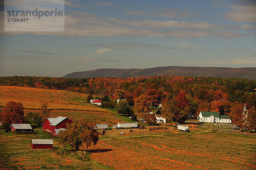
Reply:
[[64, 32], [4, 32], [3, 11], [0, 76], [256, 67], [256, 0], [65, 0]]

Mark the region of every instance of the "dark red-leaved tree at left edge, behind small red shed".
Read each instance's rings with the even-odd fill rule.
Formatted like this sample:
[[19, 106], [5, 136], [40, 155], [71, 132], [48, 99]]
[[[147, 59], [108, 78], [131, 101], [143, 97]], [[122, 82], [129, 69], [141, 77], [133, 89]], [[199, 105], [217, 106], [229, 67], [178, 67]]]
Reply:
[[9, 101], [3, 112], [0, 113], [0, 120], [6, 124], [23, 124], [24, 110], [23, 105], [20, 102]]

